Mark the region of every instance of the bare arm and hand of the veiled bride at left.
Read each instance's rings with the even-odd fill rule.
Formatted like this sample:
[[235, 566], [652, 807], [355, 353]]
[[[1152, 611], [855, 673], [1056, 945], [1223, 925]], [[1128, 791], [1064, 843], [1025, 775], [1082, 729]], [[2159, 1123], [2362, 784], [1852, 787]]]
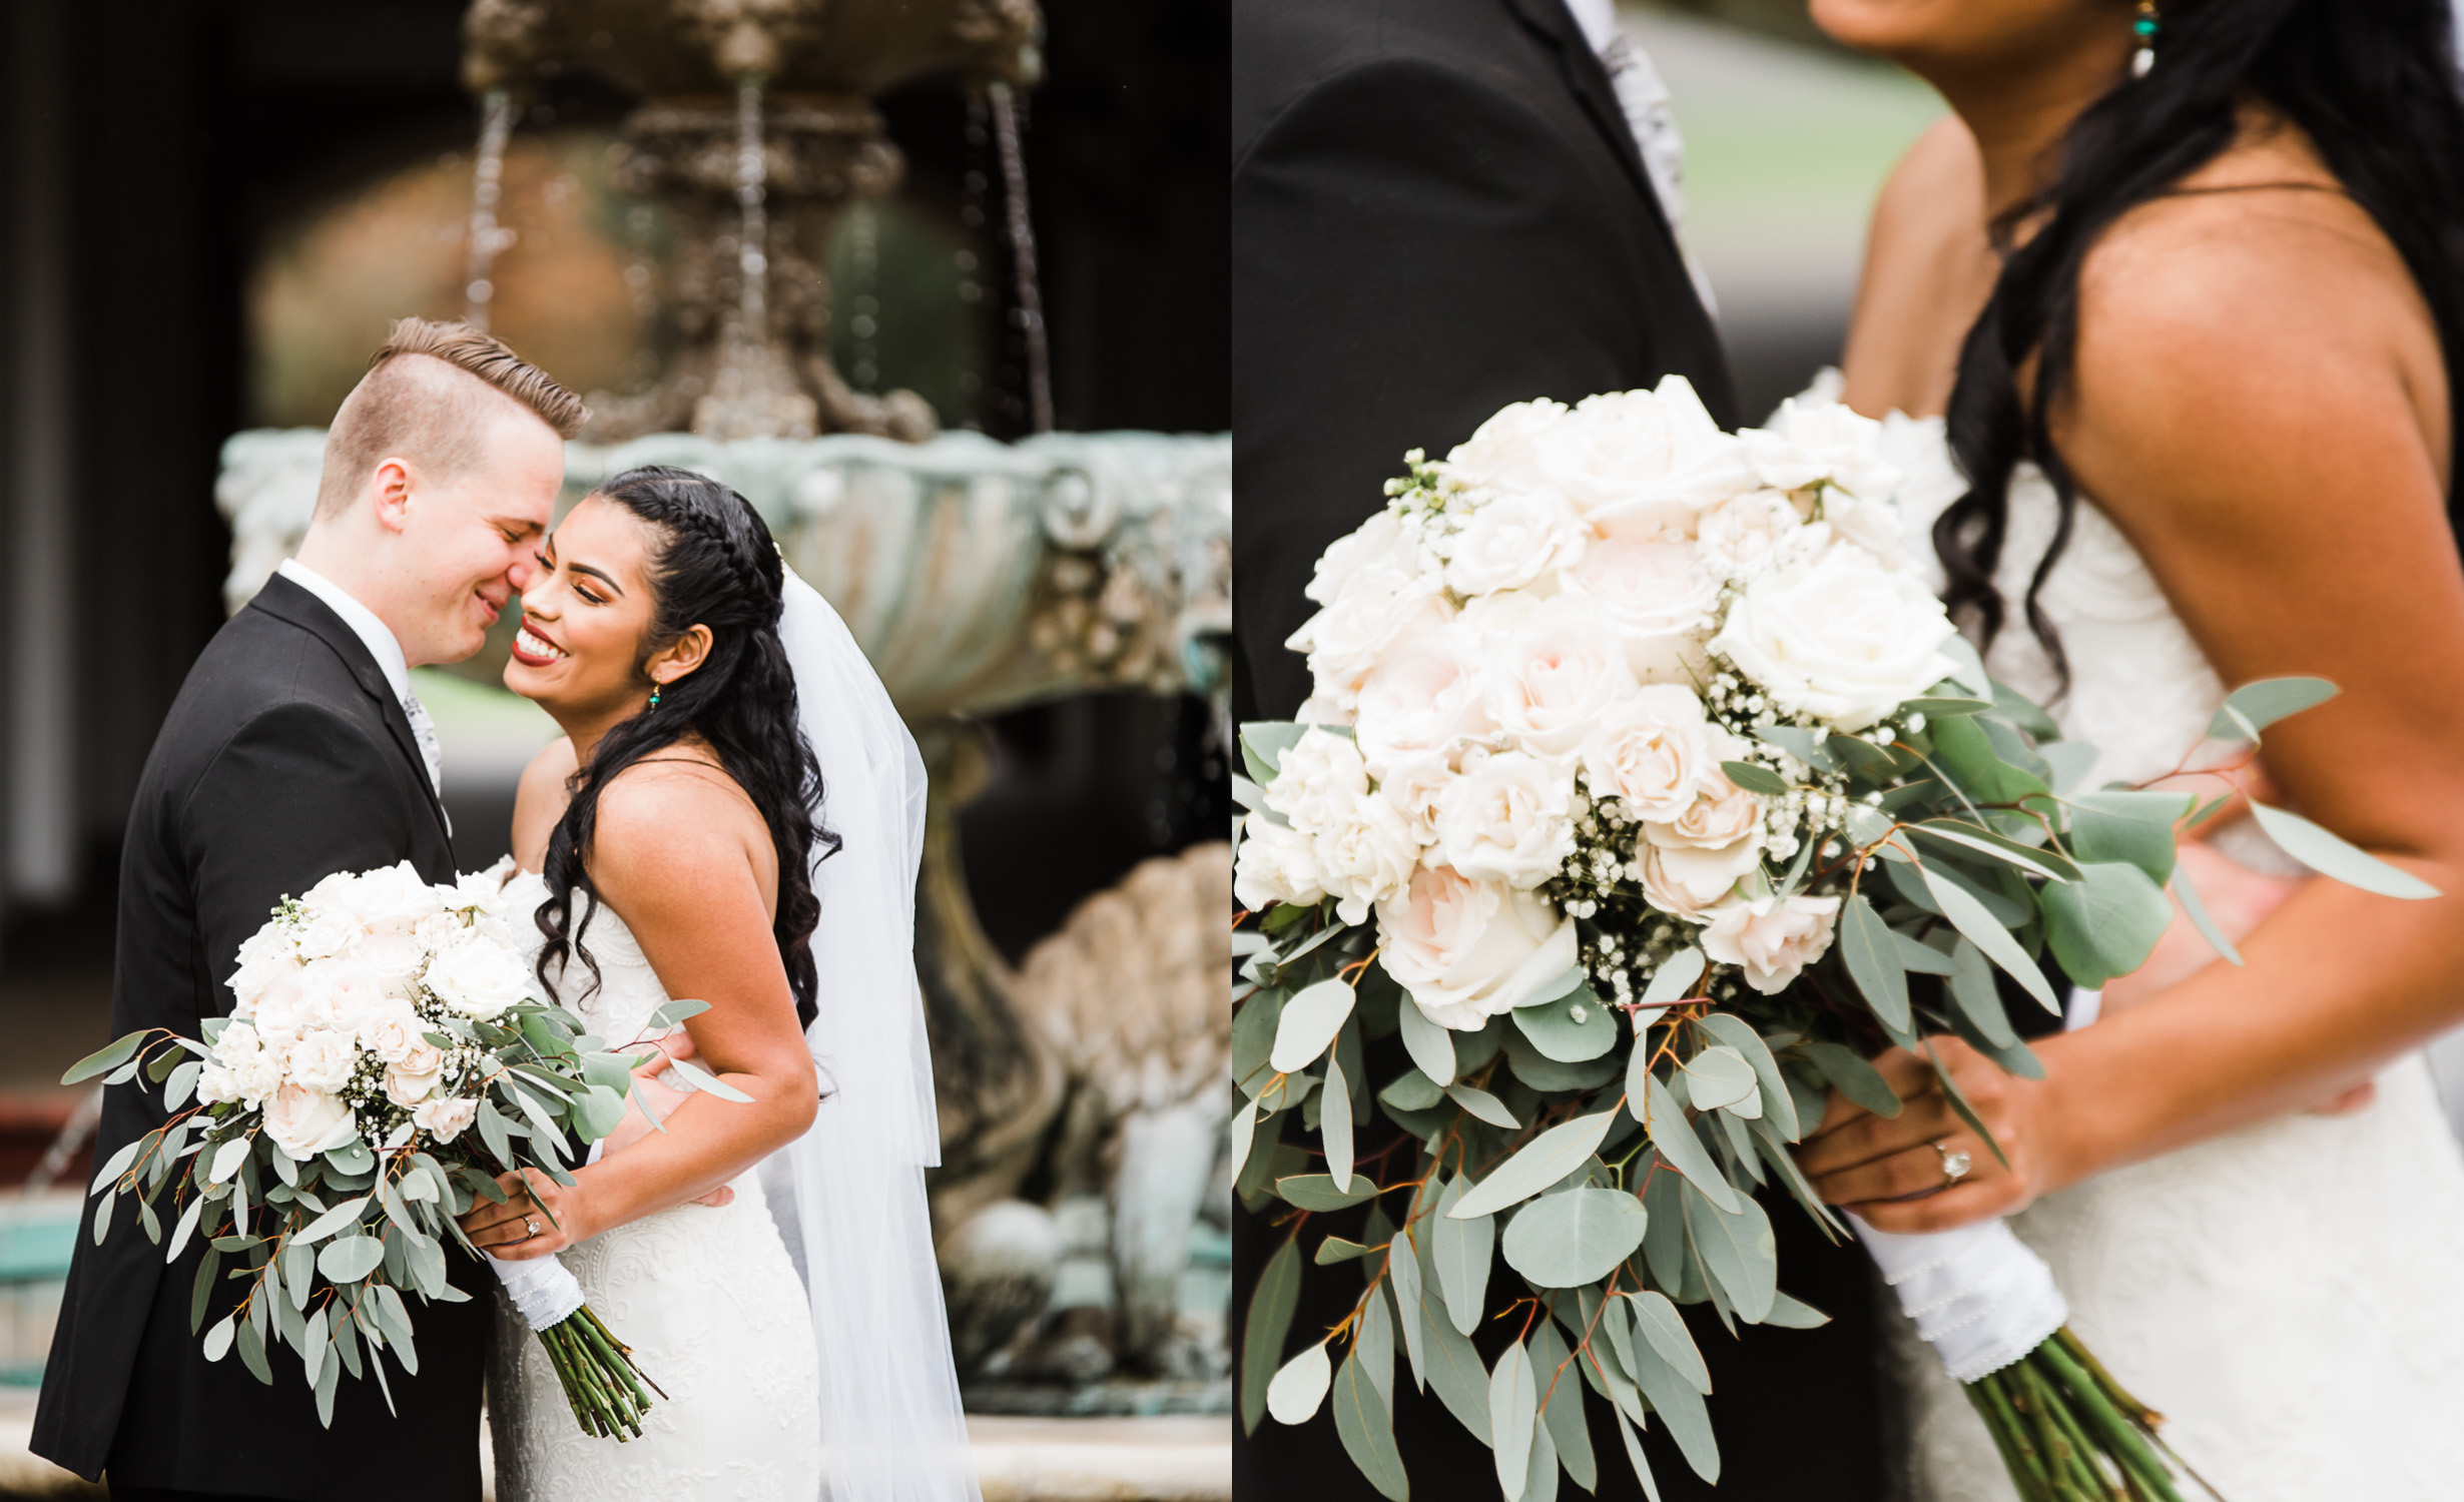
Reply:
[[[818, 1081], [796, 1022], [796, 997], [771, 936], [771, 901], [756, 859], [769, 832], [739, 793], [683, 766], [641, 766], [599, 800], [589, 872], [599, 896], [623, 914], [673, 997], [710, 1010], [685, 1022], [710, 1074], [752, 1103], [690, 1096], [650, 1133], [589, 1167], [574, 1184], [532, 1179], [554, 1224], [522, 1236], [522, 1197], [480, 1204], [463, 1224], [480, 1246], [530, 1258], [586, 1241], [609, 1226], [697, 1199], [769, 1157], [813, 1125]], [[623, 1039], [616, 1039], [623, 1042]]]

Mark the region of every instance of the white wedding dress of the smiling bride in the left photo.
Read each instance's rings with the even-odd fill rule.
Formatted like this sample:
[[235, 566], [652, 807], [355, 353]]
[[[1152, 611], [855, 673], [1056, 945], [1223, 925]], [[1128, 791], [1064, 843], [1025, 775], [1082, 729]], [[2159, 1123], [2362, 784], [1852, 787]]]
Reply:
[[[510, 891], [525, 886], [517, 911], [547, 896], [527, 872]], [[668, 990], [611, 909], [596, 911], [584, 943], [601, 985], [574, 997], [589, 978], [574, 963], [559, 987], [564, 1005], [611, 1044], [641, 1037]], [[761, 1177], [747, 1170], [732, 1187], [732, 1204], [678, 1204], [559, 1253], [589, 1307], [668, 1394], [653, 1396], [638, 1440], [582, 1433], [545, 1347], [498, 1295], [488, 1364], [498, 1502], [821, 1497], [813, 1310]]]

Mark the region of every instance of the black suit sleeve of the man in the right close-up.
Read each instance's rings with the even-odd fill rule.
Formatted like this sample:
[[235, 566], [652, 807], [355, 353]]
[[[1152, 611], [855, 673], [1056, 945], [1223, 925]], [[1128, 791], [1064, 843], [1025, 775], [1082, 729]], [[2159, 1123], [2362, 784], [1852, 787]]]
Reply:
[[[1232, 172], [1232, 401], [1244, 712], [1308, 692], [1284, 648], [1316, 556], [1528, 396], [1634, 384], [1653, 288], [1602, 180], [1501, 89], [1382, 59], [1286, 106]], [[1666, 295], [1668, 288], [1658, 288]], [[1680, 288], [1690, 305], [1690, 288]]]

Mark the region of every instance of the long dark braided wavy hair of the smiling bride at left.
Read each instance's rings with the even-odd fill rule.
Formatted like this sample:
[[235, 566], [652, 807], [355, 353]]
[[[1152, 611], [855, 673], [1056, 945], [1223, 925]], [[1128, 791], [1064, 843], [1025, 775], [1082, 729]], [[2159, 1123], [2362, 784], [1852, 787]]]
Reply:
[[[535, 916], [547, 943], [540, 948], [540, 982], [579, 955], [599, 985], [599, 963], [582, 933], [599, 914], [591, 884], [591, 832], [599, 795], [628, 766], [658, 758], [687, 734], [702, 736], [727, 776], [744, 788], [779, 852], [779, 916], [771, 933], [796, 992], [796, 1019], [813, 1024], [813, 845], [838, 849], [838, 837], [813, 822], [821, 805], [821, 763], [796, 721], [796, 675], [779, 640], [786, 564], [752, 502], [707, 475], [673, 465], [626, 470], [596, 490], [650, 524], [655, 537], [650, 576], [650, 630], [636, 667], [695, 625], [710, 628], [710, 655], [685, 677], [665, 685], [658, 709], [626, 719], [572, 776], [572, 803], [547, 837], [547, 901]], [[574, 916], [574, 894], [582, 914]]]

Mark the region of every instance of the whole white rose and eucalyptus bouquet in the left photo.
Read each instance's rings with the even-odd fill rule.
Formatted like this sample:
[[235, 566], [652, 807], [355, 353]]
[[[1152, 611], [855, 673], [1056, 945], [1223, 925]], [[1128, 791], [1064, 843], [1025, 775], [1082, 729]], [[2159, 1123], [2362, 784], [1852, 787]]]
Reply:
[[[288, 1342], [325, 1423], [342, 1371], [365, 1369], [384, 1389], [384, 1349], [419, 1369], [404, 1293], [468, 1298], [446, 1280], [446, 1239], [476, 1253], [453, 1216], [480, 1194], [503, 1202], [498, 1172], [569, 1184], [567, 1135], [594, 1143], [623, 1115], [633, 1061], [535, 997], [505, 926], [505, 869], [456, 886], [429, 886], [409, 862], [325, 877], [239, 946], [237, 1005], [207, 1019], [202, 1039], [136, 1032], [64, 1081], [108, 1071], [103, 1083], [123, 1083], [143, 1069], [163, 1086], [170, 1120], [94, 1177], [94, 1239], [121, 1197], [158, 1243], [172, 1219], [165, 1261], [205, 1236], [190, 1327], [205, 1325], [219, 1278], [249, 1283], [205, 1330], [205, 1357], [237, 1347], [271, 1384], [266, 1347]], [[658, 1027], [702, 1005], [670, 1002]], [[729, 1093], [690, 1064], [675, 1069]], [[165, 1184], [170, 1207], [158, 1211]], [[224, 1258], [239, 1266], [224, 1273]], [[574, 1275], [554, 1258], [488, 1266], [547, 1347], [582, 1428], [641, 1436], [655, 1384], [646, 1391]]]

